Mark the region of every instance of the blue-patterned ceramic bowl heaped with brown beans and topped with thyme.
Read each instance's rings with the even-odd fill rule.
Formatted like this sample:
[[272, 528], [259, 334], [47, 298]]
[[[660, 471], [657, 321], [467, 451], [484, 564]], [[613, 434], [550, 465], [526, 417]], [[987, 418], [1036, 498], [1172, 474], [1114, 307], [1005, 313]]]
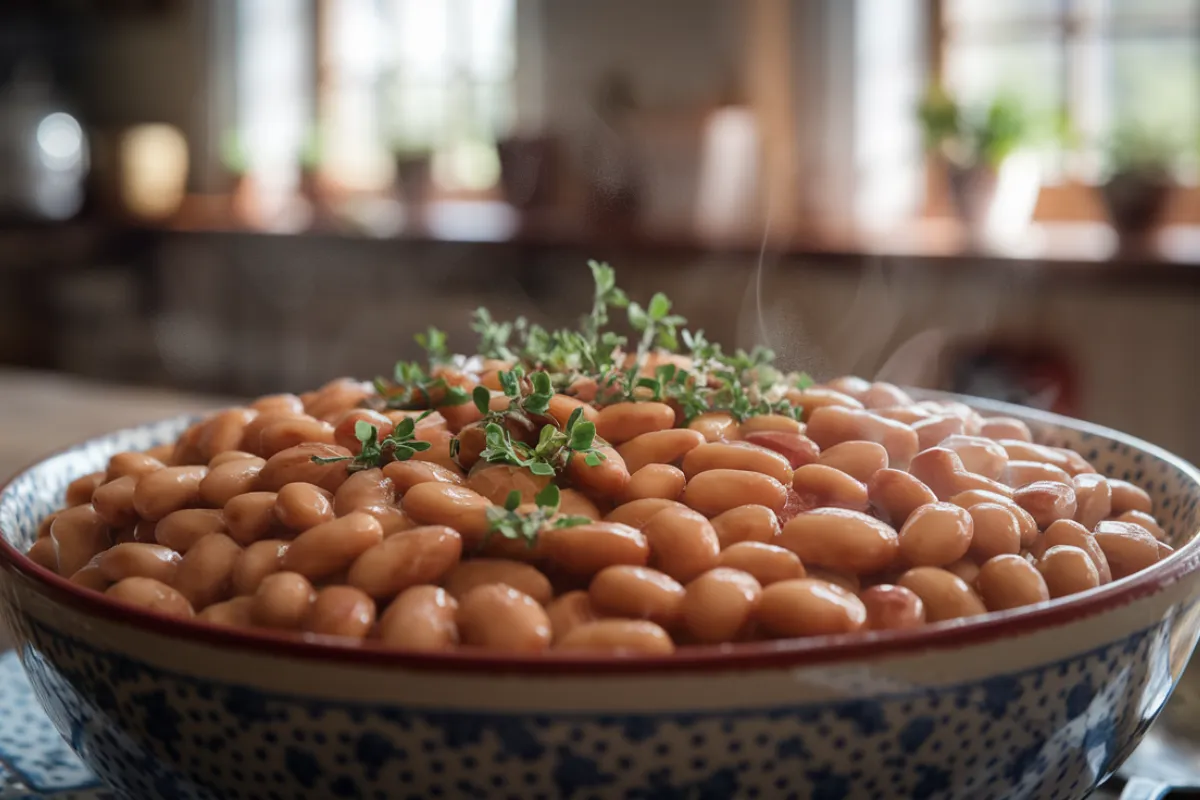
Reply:
[[[577, 331], [113, 433], [0, 493], [0, 606], [120, 796], [1079, 798], [1180, 679], [1200, 475]], [[607, 329], [626, 308], [632, 335]]]

